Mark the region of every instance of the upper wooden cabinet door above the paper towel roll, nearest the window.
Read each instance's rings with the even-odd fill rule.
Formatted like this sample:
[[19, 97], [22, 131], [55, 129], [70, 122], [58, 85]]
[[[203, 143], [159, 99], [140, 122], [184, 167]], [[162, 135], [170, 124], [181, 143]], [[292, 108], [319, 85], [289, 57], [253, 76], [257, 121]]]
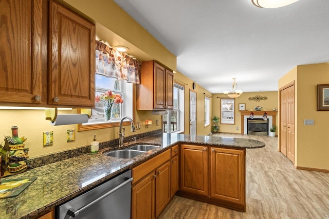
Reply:
[[57, 2], [49, 9], [48, 104], [95, 106], [95, 25]]

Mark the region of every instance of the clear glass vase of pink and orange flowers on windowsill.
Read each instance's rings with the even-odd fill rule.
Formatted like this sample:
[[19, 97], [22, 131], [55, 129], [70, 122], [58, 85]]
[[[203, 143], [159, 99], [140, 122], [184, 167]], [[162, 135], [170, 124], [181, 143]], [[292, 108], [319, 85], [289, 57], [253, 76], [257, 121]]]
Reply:
[[96, 95], [96, 103], [101, 102], [104, 109], [105, 121], [111, 120], [113, 104], [122, 104], [123, 99], [120, 94], [112, 91], [106, 91], [100, 95]]

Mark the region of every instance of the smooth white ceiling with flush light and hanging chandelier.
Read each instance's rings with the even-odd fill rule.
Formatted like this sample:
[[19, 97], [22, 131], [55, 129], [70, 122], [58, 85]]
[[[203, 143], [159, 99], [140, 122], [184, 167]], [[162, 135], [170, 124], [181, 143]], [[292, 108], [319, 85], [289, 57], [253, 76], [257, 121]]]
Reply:
[[277, 9], [251, 0], [114, 2], [177, 56], [179, 72], [211, 93], [231, 91], [232, 77], [244, 92], [276, 91], [295, 66], [329, 62], [329, 0]]

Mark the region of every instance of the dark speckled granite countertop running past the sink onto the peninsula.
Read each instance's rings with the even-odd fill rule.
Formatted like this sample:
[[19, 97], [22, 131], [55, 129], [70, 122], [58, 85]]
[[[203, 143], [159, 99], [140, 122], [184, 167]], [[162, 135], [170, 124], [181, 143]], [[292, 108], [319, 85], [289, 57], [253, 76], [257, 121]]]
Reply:
[[33, 176], [37, 178], [18, 196], [0, 199], [0, 219], [30, 218], [39, 215], [120, 172], [132, 169], [177, 143], [233, 148], [261, 148], [265, 146], [263, 142], [245, 138], [167, 133], [141, 138], [137, 143], [156, 144], [160, 145], [160, 148], [132, 159], [104, 156], [102, 152], [109, 149], [103, 149], [96, 154], [84, 154], [6, 177], [6, 179]]

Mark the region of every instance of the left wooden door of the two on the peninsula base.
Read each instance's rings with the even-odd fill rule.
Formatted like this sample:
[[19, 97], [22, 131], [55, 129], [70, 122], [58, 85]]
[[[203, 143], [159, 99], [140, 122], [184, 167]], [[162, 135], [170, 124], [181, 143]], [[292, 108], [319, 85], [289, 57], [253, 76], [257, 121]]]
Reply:
[[208, 148], [194, 145], [180, 148], [180, 189], [208, 195]]

